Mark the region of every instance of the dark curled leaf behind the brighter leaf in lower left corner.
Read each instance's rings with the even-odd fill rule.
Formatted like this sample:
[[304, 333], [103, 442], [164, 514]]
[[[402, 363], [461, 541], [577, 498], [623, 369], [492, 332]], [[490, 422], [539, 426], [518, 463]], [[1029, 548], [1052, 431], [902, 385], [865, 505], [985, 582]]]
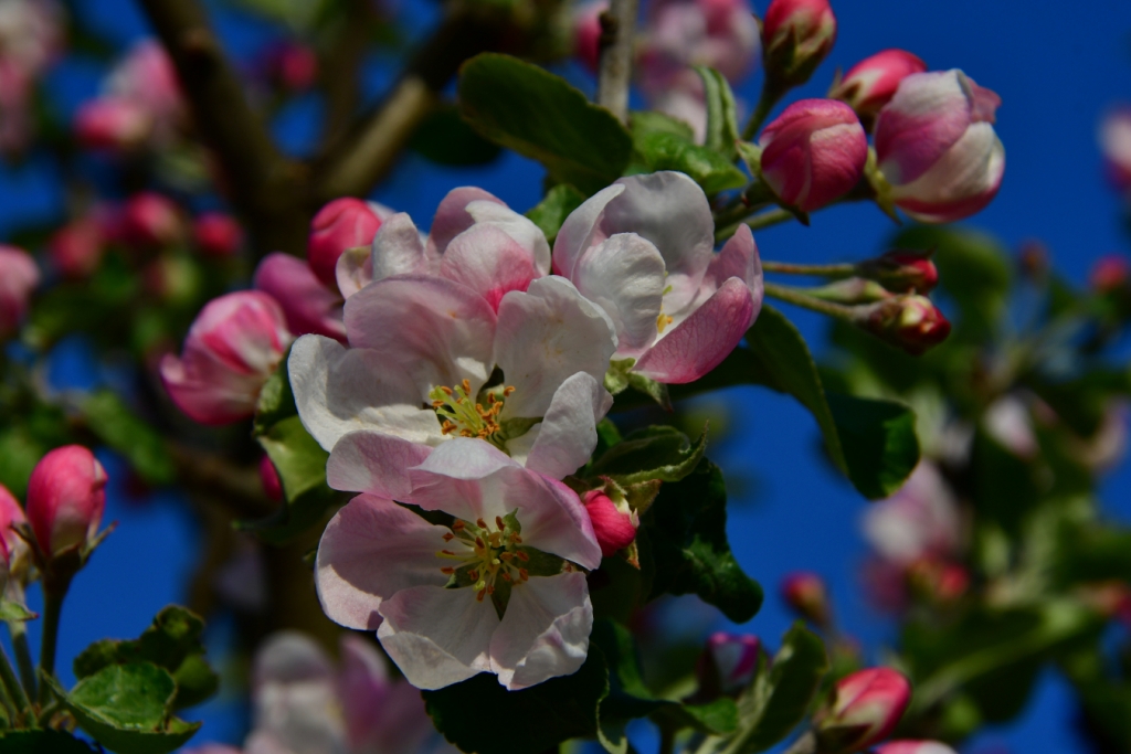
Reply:
[[170, 605], [138, 639], [102, 639], [83, 650], [75, 658], [75, 677], [86, 678], [112, 665], [152, 662], [172, 674], [176, 683], [172, 709], [199, 704], [219, 687], [219, 676], [204, 659], [204, 627], [195, 613]]

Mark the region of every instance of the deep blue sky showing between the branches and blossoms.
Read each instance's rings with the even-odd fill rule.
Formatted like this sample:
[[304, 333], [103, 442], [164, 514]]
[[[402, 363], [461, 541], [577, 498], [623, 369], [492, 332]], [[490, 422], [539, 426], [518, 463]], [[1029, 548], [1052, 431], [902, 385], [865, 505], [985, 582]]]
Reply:
[[[115, 38], [124, 42], [145, 33], [129, 0], [100, 0], [97, 6], [96, 23]], [[426, 0], [405, 0], [404, 7], [421, 23], [433, 15]], [[994, 233], [1010, 248], [1042, 240], [1054, 265], [1078, 283], [1098, 257], [1131, 250], [1121, 232], [1119, 199], [1104, 184], [1095, 146], [1100, 114], [1117, 101], [1131, 101], [1131, 3], [841, 0], [834, 8], [840, 28], [837, 45], [797, 96], [822, 95], [836, 67], [847, 68], [891, 46], [915, 52], [933, 69], [961, 68], [1001, 95], [998, 131], [1007, 150], [1001, 193], [969, 224]], [[765, 10], [763, 0], [758, 9]], [[240, 23], [225, 24], [223, 31], [241, 49], [258, 37]], [[584, 81], [578, 70], [566, 72]], [[368, 81], [374, 94], [390, 73], [385, 61], [373, 61]], [[72, 105], [93, 94], [97, 75], [70, 67], [57, 73], [53, 84]], [[753, 101], [758, 84], [756, 76], [739, 87], [740, 95]], [[310, 115], [309, 107], [300, 106], [279, 123], [277, 131], [287, 146], [301, 149], [311, 132]], [[542, 168], [513, 155], [487, 171], [441, 170], [408, 156], [374, 198], [411, 213], [423, 225], [449, 189], [472, 181], [525, 210], [541, 196]], [[28, 217], [57, 211], [59, 193], [41, 164], [0, 171], [0, 233]], [[831, 261], [880, 251], [891, 229], [874, 207], [845, 206], [819, 213], [810, 228], [771, 228], [757, 240], [768, 259]], [[819, 352], [820, 319], [793, 310], [789, 314]], [[829, 580], [847, 631], [874, 648], [890, 626], [867, 609], [856, 580], [865, 552], [857, 530], [865, 502], [821, 460], [815, 425], [792, 400], [753, 388], [720, 399], [741, 410], [746, 432], [711, 452], [724, 469], [758, 480], [757, 495], [736, 500], [729, 521], [740, 562], [767, 590], [766, 607], [746, 630], [775, 644], [789, 622], [776, 599], [777, 583], [789, 571], [810, 569]], [[1124, 520], [1131, 519], [1129, 491], [1131, 470], [1124, 463], [1104, 486], [1108, 510]], [[136, 635], [163, 605], [182, 597], [191, 567], [195, 543], [185, 534], [191, 523], [167, 496], [138, 509], [112, 494], [107, 515], [120, 521], [119, 529], [76, 580], [66, 607], [60, 649], [64, 668], [95, 639]], [[219, 634], [214, 636], [217, 643]], [[210, 705], [206, 719], [209, 725], [200, 740], [231, 739], [238, 733], [236, 718], [221, 704]], [[1082, 751], [1070, 725], [1067, 691], [1050, 676], [1022, 720], [987, 731], [968, 751], [987, 752], [998, 745], [1015, 752]]]

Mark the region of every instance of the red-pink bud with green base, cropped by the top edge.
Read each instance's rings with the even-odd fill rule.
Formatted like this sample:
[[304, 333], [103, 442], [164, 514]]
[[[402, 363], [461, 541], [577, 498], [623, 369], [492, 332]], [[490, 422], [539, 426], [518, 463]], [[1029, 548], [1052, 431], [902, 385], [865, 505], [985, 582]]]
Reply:
[[762, 60], [775, 87], [809, 80], [837, 40], [828, 0], [774, 0], [762, 19]]

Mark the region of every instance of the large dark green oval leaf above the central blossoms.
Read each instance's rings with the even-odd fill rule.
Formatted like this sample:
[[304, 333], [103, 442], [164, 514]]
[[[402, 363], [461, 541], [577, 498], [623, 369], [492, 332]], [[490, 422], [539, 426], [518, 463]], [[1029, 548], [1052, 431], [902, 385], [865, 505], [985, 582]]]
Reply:
[[475, 130], [586, 194], [620, 177], [632, 156], [632, 137], [611, 112], [590, 104], [566, 79], [517, 58], [472, 58], [457, 89], [460, 113]]

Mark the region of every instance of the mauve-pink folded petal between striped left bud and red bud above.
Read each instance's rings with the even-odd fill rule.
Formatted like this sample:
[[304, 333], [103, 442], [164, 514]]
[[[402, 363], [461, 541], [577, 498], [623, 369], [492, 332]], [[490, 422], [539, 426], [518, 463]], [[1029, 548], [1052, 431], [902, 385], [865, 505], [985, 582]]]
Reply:
[[301, 259], [290, 254], [267, 254], [252, 279], [257, 289], [274, 296], [283, 306], [287, 327], [295, 335], [325, 335], [345, 340], [342, 298], [314, 277]]

